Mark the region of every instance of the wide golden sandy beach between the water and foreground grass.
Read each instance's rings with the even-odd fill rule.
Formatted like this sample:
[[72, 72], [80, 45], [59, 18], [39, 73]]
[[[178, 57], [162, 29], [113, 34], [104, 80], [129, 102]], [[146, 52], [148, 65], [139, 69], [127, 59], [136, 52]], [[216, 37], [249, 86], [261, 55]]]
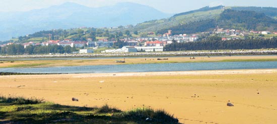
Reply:
[[277, 69], [11, 75], [0, 76], [0, 94], [64, 105], [165, 109], [181, 123], [275, 123], [276, 75]]

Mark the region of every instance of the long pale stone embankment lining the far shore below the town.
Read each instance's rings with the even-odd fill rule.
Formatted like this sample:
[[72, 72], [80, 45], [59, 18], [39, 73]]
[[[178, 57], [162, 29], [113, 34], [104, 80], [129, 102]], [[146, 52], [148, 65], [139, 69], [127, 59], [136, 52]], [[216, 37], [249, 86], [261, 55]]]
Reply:
[[41, 55], [2, 55], [1, 59], [16, 58], [98, 58], [98, 57], [171, 57], [171, 56], [236, 56], [236, 55], [277, 55], [277, 49], [255, 50], [200, 50], [171, 52], [137, 53], [92, 53], [92, 54], [41, 54]]

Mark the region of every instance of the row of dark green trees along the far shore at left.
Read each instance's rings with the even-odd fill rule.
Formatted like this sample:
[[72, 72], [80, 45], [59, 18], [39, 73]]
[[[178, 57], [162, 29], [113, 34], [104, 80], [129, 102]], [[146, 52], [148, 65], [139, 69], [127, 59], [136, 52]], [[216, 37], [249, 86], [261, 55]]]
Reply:
[[51, 45], [51, 46], [27, 46], [24, 48], [21, 44], [12, 44], [5, 47], [0, 47], [0, 54], [7, 55], [23, 55], [23, 54], [49, 54], [49, 53], [72, 53], [76, 52], [76, 47], [71, 46], [59, 46], [59, 45]]

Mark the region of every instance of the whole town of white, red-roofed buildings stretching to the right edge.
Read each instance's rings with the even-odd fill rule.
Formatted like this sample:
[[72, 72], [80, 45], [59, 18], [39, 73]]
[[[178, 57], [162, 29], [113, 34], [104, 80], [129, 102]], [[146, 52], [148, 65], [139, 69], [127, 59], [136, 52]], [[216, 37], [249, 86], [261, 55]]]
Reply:
[[[154, 35], [154, 32], [149, 32], [148, 35]], [[116, 42], [123, 42], [122, 48], [119, 49], [107, 49], [101, 51], [102, 53], [128, 53], [128, 52], [162, 52], [166, 45], [171, 44], [173, 41], [177, 43], [184, 42], [196, 42], [199, 40], [199, 37], [203, 35], [217, 35], [222, 37], [222, 41], [226, 40], [234, 40], [241, 39], [241, 37], [248, 37], [250, 35], [277, 35], [277, 32], [269, 32], [269, 31], [240, 31], [235, 29], [220, 29], [217, 28], [213, 32], [202, 32], [199, 34], [180, 34], [180, 35], [172, 35], [172, 30], [168, 30], [167, 33], [163, 35], [158, 35], [154, 37], [136, 37], [136, 38], [122, 38], [122, 39], [92, 39], [88, 38], [86, 41], [73, 41], [71, 39], [64, 40], [49, 40], [47, 42], [36, 43], [36, 42], [27, 42], [22, 45], [24, 48], [27, 46], [53, 46], [58, 45], [62, 47], [70, 46], [71, 48], [75, 47], [80, 49], [79, 52], [74, 53], [93, 53], [94, 50], [98, 48], [112, 48]], [[8, 43], [1, 45], [1, 47], [5, 47], [14, 43]]]

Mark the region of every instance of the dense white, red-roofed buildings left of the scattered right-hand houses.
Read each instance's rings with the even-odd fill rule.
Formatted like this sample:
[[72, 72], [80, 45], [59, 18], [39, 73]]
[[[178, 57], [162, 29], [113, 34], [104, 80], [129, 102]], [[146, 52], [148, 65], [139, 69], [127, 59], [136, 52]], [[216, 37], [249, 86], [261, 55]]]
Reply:
[[[174, 35], [172, 36], [171, 30], [164, 35], [160, 35], [157, 37], [149, 37], [149, 38], [125, 38], [119, 39], [124, 42], [124, 47], [116, 50], [106, 50], [102, 51], [105, 53], [122, 53], [122, 52], [153, 52], [153, 51], [163, 51], [163, 47], [167, 44], [171, 44], [172, 40], [179, 42], [192, 42], [198, 39], [197, 35]], [[154, 34], [153, 32], [150, 34]], [[93, 39], [89, 38], [87, 41], [73, 41], [71, 39], [64, 39], [64, 40], [49, 40], [47, 42], [42, 43], [35, 43], [35, 42], [28, 42], [22, 44], [24, 48], [27, 46], [51, 46], [51, 45], [58, 45], [62, 47], [70, 46], [76, 48], [90, 48], [90, 49], [81, 49], [80, 53], [93, 53], [93, 49], [91, 48], [101, 48], [101, 47], [112, 47], [114, 43], [117, 41], [115, 39], [107, 40], [107, 39], [99, 39], [98, 41], [94, 41]], [[6, 44], [9, 45], [9, 44]], [[4, 46], [4, 45], [3, 45]]]

